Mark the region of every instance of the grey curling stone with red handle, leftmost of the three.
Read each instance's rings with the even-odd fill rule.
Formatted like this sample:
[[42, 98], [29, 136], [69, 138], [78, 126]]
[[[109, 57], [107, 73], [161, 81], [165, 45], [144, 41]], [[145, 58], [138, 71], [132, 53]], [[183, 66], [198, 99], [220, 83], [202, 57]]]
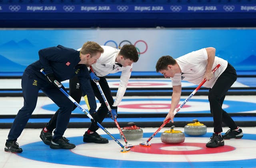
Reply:
[[[143, 136], [143, 130], [136, 126], [133, 122], [128, 123], [128, 125], [122, 129], [122, 132], [126, 138], [126, 140], [138, 140], [142, 138]], [[122, 135], [120, 134], [120, 137], [122, 138]]]

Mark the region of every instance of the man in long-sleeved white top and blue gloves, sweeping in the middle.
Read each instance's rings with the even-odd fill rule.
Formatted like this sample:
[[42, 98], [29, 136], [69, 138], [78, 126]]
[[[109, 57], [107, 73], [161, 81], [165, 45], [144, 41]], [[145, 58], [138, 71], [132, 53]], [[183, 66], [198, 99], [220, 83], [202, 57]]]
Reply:
[[[111, 107], [112, 119], [116, 119], [117, 117], [117, 107], [122, 101], [124, 97], [124, 93], [126, 92], [126, 88], [128, 85], [128, 81], [130, 79], [130, 75], [132, 72], [132, 63], [138, 61], [138, 51], [134, 45], [124, 45], [121, 49], [116, 49], [110, 46], [101, 46], [104, 49], [104, 53], [101, 54], [100, 58], [96, 63], [92, 64], [92, 69], [94, 73], [90, 73], [91, 77], [96, 79], [98, 77], [98, 82], [102, 88], [102, 91]], [[80, 49], [78, 49], [80, 50]], [[111, 94], [111, 90], [108, 86], [108, 82], [106, 80], [106, 76], [110, 73], [117, 73], [122, 71], [120, 76], [120, 83], [118, 87], [118, 91], [116, 93], [116, 99], [114, 100]], [[95, 76], [97, 75], [97, 76]], [[80, 102], [82, 92], [80, 90], [80, 81], [77, 78], [70, 80], [70, 96], [73, 97], [78, 103]], [[91, 80], [92, 89], [94, 91], [95, 96], [100, 101], [100, 107], [97, 111], [97, 116], [94, 116], [94, 119], [98, 121], [98, 123], [102, 123], [104, 118], [108, 114], [108, 108], [100, 94], [100, 91]], [[89, 107], [88, 107], [89, 108]], [[74, 107], [75, 109], [75, 107]], [[74, 110], [73, 109], [73, 110]], [[40, 138], [43, 140], [45, 144], [52, 138], [52, 130], [56, 127], [56, 118], [58, 116], [58, 111], [54, 114], [49, 123], [46, 124], [44, 131], [41, 132]], [[45, 130], [48, 130], [45, 132]], [[92, 122], [88, 130], [84, 133], [84, 142], [94, 142], [94, 143], [108, 143], [107, 138], [103, 138], [100, 136], [96, 130], [98, 130], [98, 126], [96, 123]]]

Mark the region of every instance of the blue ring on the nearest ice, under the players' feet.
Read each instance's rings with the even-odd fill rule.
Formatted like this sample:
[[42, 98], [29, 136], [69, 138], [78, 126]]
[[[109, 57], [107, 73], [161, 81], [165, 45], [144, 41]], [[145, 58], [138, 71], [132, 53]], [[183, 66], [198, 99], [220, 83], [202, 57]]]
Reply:
[[[153, 134], [153, 132], [144, 132], [143, 138], [148, 138]], [[203, 136], [200, 137], [209, 137], [212, 133], [208, 132]], [[114, 137], [119, 137], [119, 134], [112, 134]], [[104, 138], [108, 138], [109, 140], [112, 140], [110, 136], [107, 134], [102, 135]], [[160, 137], [161, 134], [158, 133], [154, 137]], [[197, 138], [200, 138], [197, 137]], [[82, 136], [75, 136], [75, 137], [68, 137], [70, 142], [76, 144], [76, 146], [83, 144], [82, 142]], [[243, 139], [248, 140], [256, 140], [256, 134], [244, 134]], [[106, 144], [107, 145], [107, 144]], [[118, 144], [116, 144], [118, 146]], [[211, 164], [214, 162], [214, 164], [218, 165], [236, 165], [239, 167], [250, 167], [251, 165], [256, 165], [256, 159], [249, 159], [246, 162], [244, 160], [226, 160], [226, 161], [212, 161], [212, 162], [145, 162], [145, 161], [133, 161], [133, 160], [116, 160], [116, 159], [106, 159], [106, 158], [100, 158], [100, 154], [98, 157], [90, 157], [90, 156], [84, 156], [80, 154], [76, 154], [72, 152], [71, 150], [66, 149], [50, 149], [48, 145], [45, 145], [42, 141], [39, 142], [32, 142], [30, 144], [26, 144], [21, 146], [24, 150], [22, 153], [18, 153], [18, 156], [21, 156], [23, 158], [41, 161], [41, 162], [48, 162], [53, 164], [64, 164], [64, 165], [72, 165], [72, 166], [92, 166], [92, 167], [105, 167], [105, 168], [111, 168], [113, 166], [119, 165], [120, 167], [130, 167], [131, 165], [134, 167], [141, 167], [144, 166], [150, 166], [150, 167], [156, 167], [156, 166], [172, 166], [172, 167], [178, 167], [178, 166], [188, 166], [190, 167], [191, 164], [197, 166], [197, 167], [203, 167], [207, 164]], [[36, 150], [35, 150], [36, 149]], [[113, 150], [113, 149], [111, 149]], [[120, 148], [117, 148], [116, 150], [120, 150]], [[126, 153], [121, 153], [122, 154]], [[150, 160], [150, 159], [148, 159]], [[97, 163], [97, 165], [95, 165]]]

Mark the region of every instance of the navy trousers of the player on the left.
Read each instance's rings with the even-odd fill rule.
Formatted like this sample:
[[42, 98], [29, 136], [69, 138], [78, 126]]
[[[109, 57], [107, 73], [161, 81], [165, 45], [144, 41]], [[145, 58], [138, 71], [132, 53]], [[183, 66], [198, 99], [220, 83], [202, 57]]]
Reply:
[[[57, 87], [48, 83], [44, 75], [31, 69], [26, 69], [22, 75], [22, 93], [24, 106], [18, 111], [10, 132], [8, 140], [17, 140], [22, 130], [25, 128], [28, 119], [31, 117], [38, 99], [38, 91], [41, 89], [58, 107], [59, 115], [56, 122], [53, 138], [63, 136], [71, 115], [73, 103]], [[63, 87], [64, 88], [64, 87]]]

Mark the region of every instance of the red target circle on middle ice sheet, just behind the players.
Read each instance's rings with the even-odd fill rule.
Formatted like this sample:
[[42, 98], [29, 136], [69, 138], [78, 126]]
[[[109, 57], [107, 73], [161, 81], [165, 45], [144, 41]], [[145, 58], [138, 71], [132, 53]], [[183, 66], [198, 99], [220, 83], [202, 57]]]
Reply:
[[[179, 107], [180, 105], [177, 105]], [[118, 105], [120, 108], [126, 109], [170, 109], [171, 105], [166, 103], [140, 103], [130, 105]], [[190, 105], [184, 105], [182, 108], [191, 107]]]

